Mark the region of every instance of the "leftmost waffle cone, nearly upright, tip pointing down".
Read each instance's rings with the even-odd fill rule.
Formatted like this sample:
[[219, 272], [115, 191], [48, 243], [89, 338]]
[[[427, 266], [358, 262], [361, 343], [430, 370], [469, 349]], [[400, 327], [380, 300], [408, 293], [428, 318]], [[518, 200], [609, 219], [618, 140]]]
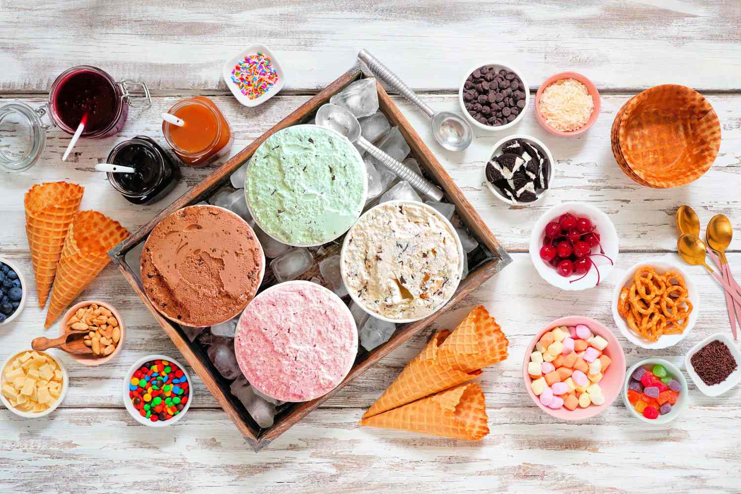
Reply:
[[26, 236], [41, 308], [49, 297], [64, 238], [79, 210], [83, 192], [84, 188], [77, 184], [47, 182], [34, 185], [24, 197]]

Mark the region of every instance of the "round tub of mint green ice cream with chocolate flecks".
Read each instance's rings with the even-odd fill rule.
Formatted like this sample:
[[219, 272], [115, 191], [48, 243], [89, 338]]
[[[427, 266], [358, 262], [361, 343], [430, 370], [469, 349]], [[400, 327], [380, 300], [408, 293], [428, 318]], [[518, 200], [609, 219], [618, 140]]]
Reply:
[[368, 174], [345, 136], [294, 125], [257, 148], [247, 167], [245, 196], [250, 214], [270, 237], [313, 247], [355, 224], [368, 196]]

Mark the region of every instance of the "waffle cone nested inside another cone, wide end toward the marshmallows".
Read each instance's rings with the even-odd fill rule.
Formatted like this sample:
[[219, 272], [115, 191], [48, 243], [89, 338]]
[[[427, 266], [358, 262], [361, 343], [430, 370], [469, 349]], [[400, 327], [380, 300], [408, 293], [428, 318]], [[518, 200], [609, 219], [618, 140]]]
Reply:
[[509, 341], [484, 306], [473, 307], [461, 324], [445, 338], [437, 357], [440, 365], [463, 373], [507, 358]]

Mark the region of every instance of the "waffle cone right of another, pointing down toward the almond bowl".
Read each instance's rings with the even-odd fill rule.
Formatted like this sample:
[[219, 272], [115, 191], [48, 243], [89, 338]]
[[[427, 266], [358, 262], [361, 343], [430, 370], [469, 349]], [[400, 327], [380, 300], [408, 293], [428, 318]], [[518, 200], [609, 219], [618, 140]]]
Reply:
[[45, 327], [50, 327], [108, 264], [108, 250], [129, 236], [127, 230], [96, 211], [77, 213], [64, 240], [54, 278]]

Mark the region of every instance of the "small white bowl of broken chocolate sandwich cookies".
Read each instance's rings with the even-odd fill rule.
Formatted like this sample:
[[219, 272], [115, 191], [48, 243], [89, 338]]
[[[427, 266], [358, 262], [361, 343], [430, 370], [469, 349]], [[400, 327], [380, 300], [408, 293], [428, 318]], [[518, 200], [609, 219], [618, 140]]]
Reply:
[[539, 201], [551, 187], [554, 157], [538, 139], [525, 134], [494, 144], [484, 169], [485, 184], [507, 204]]

